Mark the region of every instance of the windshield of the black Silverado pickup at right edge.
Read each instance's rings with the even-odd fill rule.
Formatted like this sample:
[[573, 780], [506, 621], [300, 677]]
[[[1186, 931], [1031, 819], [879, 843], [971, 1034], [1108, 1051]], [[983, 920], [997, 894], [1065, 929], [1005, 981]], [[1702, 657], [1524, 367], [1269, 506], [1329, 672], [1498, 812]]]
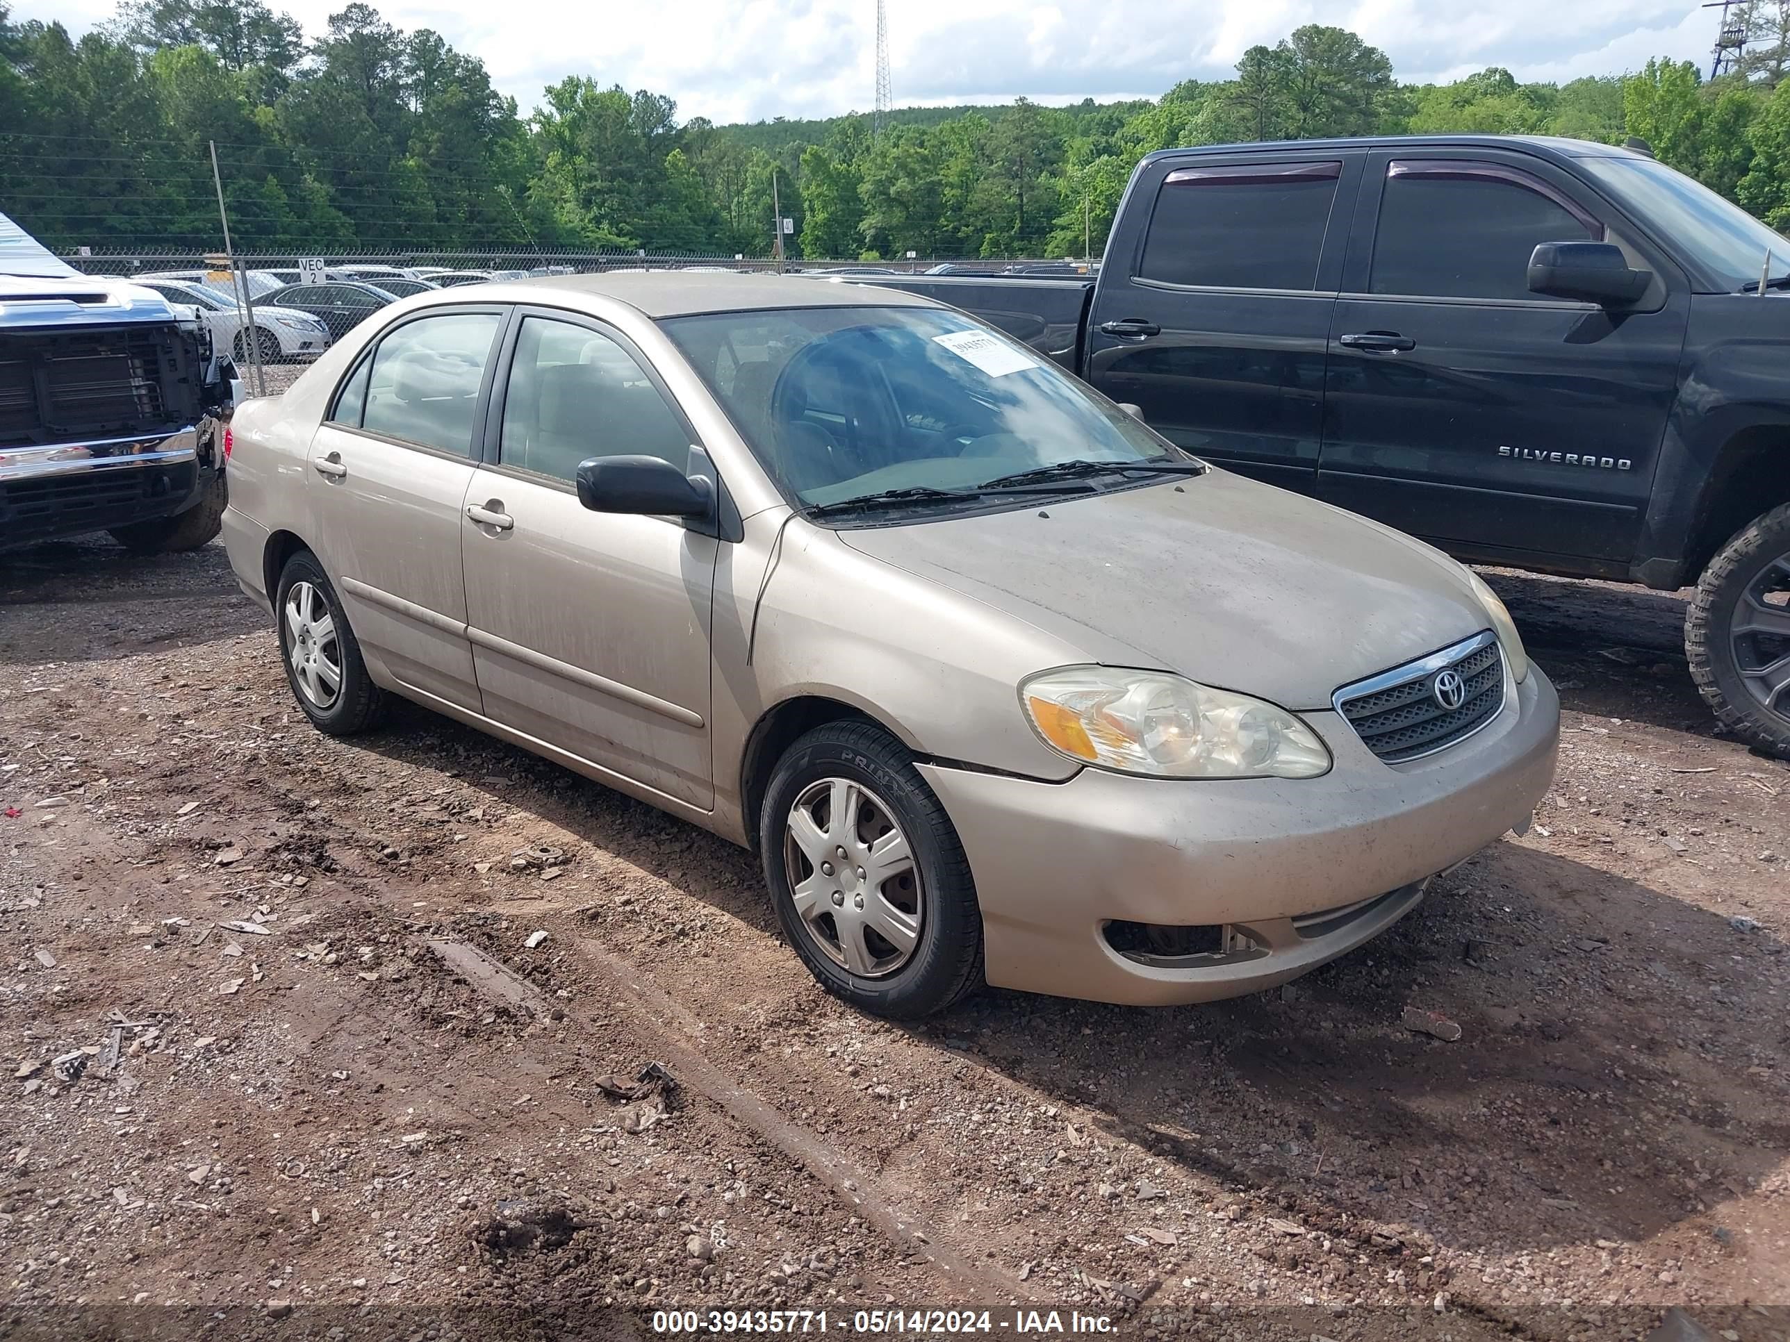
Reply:
[[1756, 285], [1767, 252], [1772, 277], [1790, 272], [1790, 238], [1665, 163], [1616, 156], [1586, 156], [1579, 163], [1618, 204], [1652, 220], [1708, 270], [1720, 292]]

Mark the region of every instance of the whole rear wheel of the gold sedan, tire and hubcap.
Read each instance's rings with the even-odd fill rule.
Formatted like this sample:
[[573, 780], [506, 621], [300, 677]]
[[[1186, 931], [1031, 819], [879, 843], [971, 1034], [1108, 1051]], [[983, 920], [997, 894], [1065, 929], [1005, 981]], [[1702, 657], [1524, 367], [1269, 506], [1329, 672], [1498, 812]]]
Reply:
[[385, 691], [372, 684], [347, 612], [308, 549], [286, 560], [274, 585], [279, 660], [311, 726], [353, 735], [385, 716]]

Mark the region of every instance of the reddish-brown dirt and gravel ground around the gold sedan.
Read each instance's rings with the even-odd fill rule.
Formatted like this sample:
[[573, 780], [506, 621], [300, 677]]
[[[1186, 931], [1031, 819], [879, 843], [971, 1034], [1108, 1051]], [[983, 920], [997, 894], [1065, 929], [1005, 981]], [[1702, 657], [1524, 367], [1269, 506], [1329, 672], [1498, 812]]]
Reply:
[[1527, 837], [1271, 995], [897, 1027], [746, 854], [417, 709], [310, 730], [218, 546], [0, 558], [0, 1337], [1781, 1342], [1790, 766], [1681, 599], [1489, 578], [1566, 705]]

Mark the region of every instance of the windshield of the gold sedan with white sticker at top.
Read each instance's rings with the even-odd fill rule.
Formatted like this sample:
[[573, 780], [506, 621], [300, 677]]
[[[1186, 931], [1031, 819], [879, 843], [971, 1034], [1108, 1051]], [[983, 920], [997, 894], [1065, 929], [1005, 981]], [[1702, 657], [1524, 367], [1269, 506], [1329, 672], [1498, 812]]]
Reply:
[[1063, 463], [1190, 460], [1054, 363], [954, 311], [780, 308], [661, 327], [806, 505], [974, 490]]

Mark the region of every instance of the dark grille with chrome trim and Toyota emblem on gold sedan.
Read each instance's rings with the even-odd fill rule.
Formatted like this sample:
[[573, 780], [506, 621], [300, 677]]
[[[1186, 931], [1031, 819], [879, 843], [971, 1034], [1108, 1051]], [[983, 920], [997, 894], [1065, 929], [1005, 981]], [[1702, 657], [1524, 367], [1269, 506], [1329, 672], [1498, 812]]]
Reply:
[[[1459, 676], [1455, 703], [1450, 673]], [[1437, 687], [1437, 682], [1443, 682]], [[1387, 764], [1432, 755], [1464, 741], [1504, 707], [1504, 655], [1489, 630], [1409, 666], [1344, 685], [1335, 710]], [[1450, 707], [1453, 705], [1453, 707]]]

